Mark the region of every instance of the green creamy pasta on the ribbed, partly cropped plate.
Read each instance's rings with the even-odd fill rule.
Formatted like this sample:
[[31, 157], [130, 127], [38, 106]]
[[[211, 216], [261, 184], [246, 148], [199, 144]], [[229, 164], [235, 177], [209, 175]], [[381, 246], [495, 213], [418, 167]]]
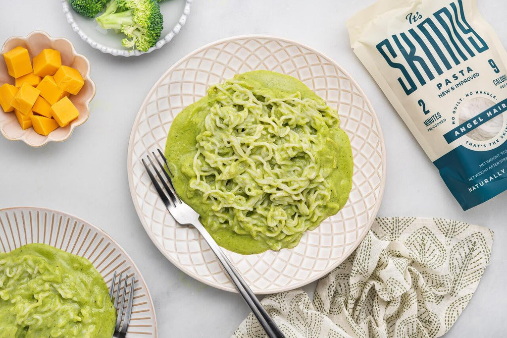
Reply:
[[87, 259], [45, 244], [0, 253], [0, 338], [111, 338], [115, 320]]

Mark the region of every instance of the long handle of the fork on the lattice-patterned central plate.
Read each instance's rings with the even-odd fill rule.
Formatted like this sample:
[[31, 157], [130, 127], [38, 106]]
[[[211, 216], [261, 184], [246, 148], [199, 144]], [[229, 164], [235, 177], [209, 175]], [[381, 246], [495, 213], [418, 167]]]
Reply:
[[259, 299], [257, 299], [257, 296], [253, 294], [252, 290], [248, 287], [244, 279], [236, 271], [229, 258], [227, 258], [227, 256], [224, 254], [224, 251], [218, 246], [218, 244], [216, 244], [215, 240], [213, 240], [201, 222], [196, 223], [198, 224], [193, 223], [193, 225], [197, 228], [197, 230], [199, 230], [201, 235], [204, 237], [204, 240], [206, 240], [211, 250], [219, 259], [222, 266], [224, 266], [224, 269], [231, 278], [232, 283], [236, 286], [238, 292], [246, 301], [253, 314], [257, 317], [257, 320], [259, 320], [259, 323], [263, 327], [264, 331], [266, 331], [267, 335], [270, 338], [285, 338], [285, 335], [282, 333], [280, 328], [278, 328], [274, 320], [269, 316], [266, 309], [264, 309], [264, 307], [261, 305], [261, 302]]

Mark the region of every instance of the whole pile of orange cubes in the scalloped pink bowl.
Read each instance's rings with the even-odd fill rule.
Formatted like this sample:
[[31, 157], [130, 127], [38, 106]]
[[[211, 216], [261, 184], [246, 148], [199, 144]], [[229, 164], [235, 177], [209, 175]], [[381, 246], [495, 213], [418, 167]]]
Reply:
[[78, 94], [85, 81], [78, 70], [61, 64], [59, 51], [43, 49], [33, 58], [33, 67], [28, 50], [21, 46], [4, 53], [4, 59], [15, 86], [0, 86], [0, 106], [14, 111], [23, 130], [33, 127], [48, 136], [79, 117], [68, 96]]

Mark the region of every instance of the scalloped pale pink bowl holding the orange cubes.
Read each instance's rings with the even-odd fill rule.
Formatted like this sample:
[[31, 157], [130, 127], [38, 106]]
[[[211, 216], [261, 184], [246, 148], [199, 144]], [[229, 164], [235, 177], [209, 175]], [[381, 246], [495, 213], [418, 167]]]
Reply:
[[[62, 142], [67, 140], [74, 128], [82, 125], [90, 116], [90, 102], [95, 96], [95, 84], [90, 79], [90, 62], [86, 57], [78, 54], [70, 41], [64, 38], [51, 38], [46, 32], [37, 30], [29, 33], [26, 37], [12, 37], [7, 39], [0, 54], [10, 51], [16, 46], [22, 46], [28, 49], [30, 57], [37, 56], [43, 49], [52, 48], [60, 51], [62, 64], [77, 69], [85, 85], [77, 95], [70, 95], [71, 102], [79, 111], [79, 117], [70, 122], [64, 128], [57, 128], [48, 136], [42, 136], [35, 132], [33, 128], [21, 129], [14, 113], [5, 113], [0, 108], [0, 130], [4, 137], [11, 141], [23, 141], [31, 147], [42, 147], [48, 142]], [[4, 58], [0, 57], [0, 86], [4, 83], [14, 85], [14, 78], [7, 72], [7, 66]]]

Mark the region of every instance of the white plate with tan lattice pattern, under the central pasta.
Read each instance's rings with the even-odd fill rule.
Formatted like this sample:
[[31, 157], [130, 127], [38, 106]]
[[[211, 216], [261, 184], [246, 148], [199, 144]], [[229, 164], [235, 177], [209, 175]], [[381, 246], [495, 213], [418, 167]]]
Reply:
[[148, 151], [164, 149], [174, 116], [204, 96], [209, 85], [260, 69], [300, 79], [336, 108], [354, 155], [347, 205], [306, 232], [296, 248], [250, 256], [226, 251], [253, 292], [265, 294], [300, 287], [332, 271], [364, 238], [380, 206], [385, 181], [382, 132], [370, 102], [342, 67], [309, 47], [266, 36], [233, 37], [199, 48], [172, 65], [144, 100], [130, 136], [127, 170], [135, 209], [159, 250], [195, 279], [235, 291], [198, 232], [175, 224], [140, 159]]

